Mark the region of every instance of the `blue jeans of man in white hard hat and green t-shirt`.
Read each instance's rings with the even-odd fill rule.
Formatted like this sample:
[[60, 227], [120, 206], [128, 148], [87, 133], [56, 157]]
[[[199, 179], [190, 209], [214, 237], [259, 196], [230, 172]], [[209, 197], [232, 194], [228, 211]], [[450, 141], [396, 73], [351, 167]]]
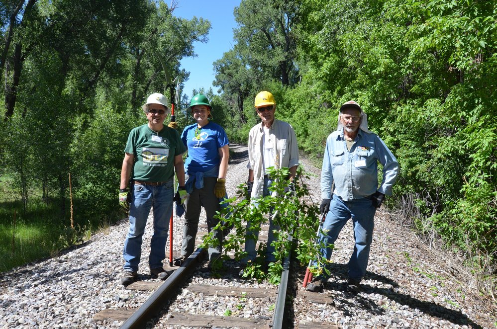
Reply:
[[134, 185], [129, 209], [129, 231], [124, 242], [124, 270], [138, 271], [141, 244], [150, 208], [154, 208], [154, 234], [150, 241], [150, 268], [162, 267], [166, 258], [169, 219], [173, 211], [173, 180], [164, 185]]

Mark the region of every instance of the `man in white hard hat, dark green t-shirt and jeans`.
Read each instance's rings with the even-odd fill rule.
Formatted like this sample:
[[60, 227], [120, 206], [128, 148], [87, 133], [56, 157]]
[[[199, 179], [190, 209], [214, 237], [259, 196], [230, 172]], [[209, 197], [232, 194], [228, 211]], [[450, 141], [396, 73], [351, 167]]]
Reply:
[[[182, 158], [186, 148], [179, 133], [164, 126], [169, 113], [164, 95], [151, 94], [142, 108], [148, 123], [129, 133], [121, 168], [119, 203], [129, 206], [129, 232], [124, 243], [124, 275], [121, 278], [124, 286], [138, 277], [142, 236], [151, 208], [154, 209], [154, 234], [148, 259], [150, 274], [153, 278], [166, 279], [168, 274], [162, 261], [166, 258], [169, 219], [173, 211], [175, 170], [182, 201], [187, 197]], [[133, 181], [131, 191], [128, 189], [130, 177]]]

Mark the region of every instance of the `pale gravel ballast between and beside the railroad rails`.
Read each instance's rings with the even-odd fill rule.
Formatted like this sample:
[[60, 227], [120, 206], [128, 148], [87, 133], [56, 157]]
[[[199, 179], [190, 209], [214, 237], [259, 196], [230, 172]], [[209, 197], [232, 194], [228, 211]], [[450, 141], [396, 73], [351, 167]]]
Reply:
[[[246, 147], [232, 145], [231, 149], [245, 155], [229, 165], [226, 184], [228, 194], [233, 195], [236, 186], [247, 178]], [[310, 173], [308, 185], [314, 202], [319, 203], [319, 170], [305, 160], [301, 162]], [[462, 271], [446, 267], [440, 257], [446, 251], [426, 248], [384, 210], [377, 213], [375, 221], [363, 292], [351, 295], [344, 290], [346, 264], [353, 247], [351, 225], [347, 225], [335, 245], [333, 277], [325, 287], [335, 306], [309, 305], [297, 298], [297, 324], [321, 321], [340, 328], [497, 327], [495, 301], [480, 296], [471, 278], [461, 276]], [[182, 219], [175, 218], [175, 250], [181, 245], [182, 224]], [[104, 309], [137, 308], [149, 296], [147, 292], [126, 290], [120, 284], [127, 230], [127, 219], [123, 219], [77, 249], [1, 273], [0, 328], [118, 328], [121, 321], [97, 322], [93, 317]], [[141, 280], [151, 280], [147, 264], [151, 233], [149, 221], [142, 247]], [[275, 288], [234, 275], [215, 279], [201, 272], [191, 283]], [[231, 310], [237, 317], [271, 317], [268, 305], [272, 304], [271, 298], [240, 301], [193, 294], [185, 289], [170, 311], [221, 316]], [[157, 328], [171, 328], [166, 318], [159, 321]]]

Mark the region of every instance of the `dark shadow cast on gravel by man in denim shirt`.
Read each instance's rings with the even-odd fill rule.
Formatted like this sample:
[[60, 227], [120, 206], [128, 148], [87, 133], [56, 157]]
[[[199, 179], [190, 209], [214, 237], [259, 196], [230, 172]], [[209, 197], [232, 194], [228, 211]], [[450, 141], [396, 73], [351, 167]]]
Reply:
[[[383, 276], [381, 274], [376, 274], [373, 272], [366, 272], [366, 279], [371, 279], [379, 282], [383, 282], [383, 284], [391, 285], [392, 288], [384, 288], [384, 287], [373, 287], [368, 284], [362, 283], [362, 291], [364, 293], [353, 295], [346, 290], [346, 283], [348, 275], [348, 266], [347, 264], [331, 264], [331, 273], [332, 276], [328, 280], [326, 284], [326, 289], [340, 291], [345, 295], [345, 298], [340, 299], [340, 303], [349, 305], [351, 307], [357, 307], [357, 304], [361, 305], [361, 308], [364, 310], [368, 310], [373, 315], [383, 315], [386, 310], [383, 309], [380, 305], [378, 305], [377, 300], [367, 298], [364, 294], [380, 294], [387, 297], [389, 300], [392, 300], [400, 305], [405, 305], [410, 309], [418, 309], [420, 312], [427, 314], [429, 316], [439, 318], [442, 320], [450, 321], [452, 324], [460, 325], [460, 326], [471, 326], [471, 328], [479, 328], [483, 327], [475, 323], [473, 320], [469, 319], [467, 315], [463, 314], [457, 310], [451, 310], [444, 306], [441, 306], [437, 303], [422, 301], [416, 298], [411, 297], [410, 295], [402, 294], [398, 291], [395, 291], [395, 288], [398, 288], [399, 285], [396, 281]], [[340, 281], [337, 281], [340, 280]], [[334, 296], [337, 298], [338, 296]], [[345, 316], [352, 316], [349, 311], [349, 308], [344, 309]]]

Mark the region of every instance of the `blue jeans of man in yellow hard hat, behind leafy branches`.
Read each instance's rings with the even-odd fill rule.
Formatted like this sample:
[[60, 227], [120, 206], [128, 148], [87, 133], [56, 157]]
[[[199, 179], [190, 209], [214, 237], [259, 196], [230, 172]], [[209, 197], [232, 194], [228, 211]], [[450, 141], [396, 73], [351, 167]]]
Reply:
[[[270, 195], [269, 186], [273, 181], [268, 178], [264, 178], [264, 189], [262, 192], [262, 196]], [[253, 201], [253, 200], [252, 200]], [[253, 207], [257, 207], [257, 202], [252, 202]], [[267, 261], [275, 261], [275, 255], [273, 252], [275, 251], [275, 247], [271, 246], [273, 241], [275, 240], [275, 235], [273, 233], [274, 230], [280, 231], [280, 227], [273, 222], [273, 217], [269, 217], [269, 232], [268, 232], [268, 244], [267, 244], [267, 252], [266, 252], [266, 260]], [[255, 245], [257, 240], [259, 239], [259, 230], [250, 230], [251, 222], [247, 222], [247, 231], [245, 235], [245, 252], [247, 252], [247, 256], [243, 259], [243, 262], [247, 262], [248, 260], [254, 261], [256, 257]], [[255, 236], [255, 239], [254, 237]]]

